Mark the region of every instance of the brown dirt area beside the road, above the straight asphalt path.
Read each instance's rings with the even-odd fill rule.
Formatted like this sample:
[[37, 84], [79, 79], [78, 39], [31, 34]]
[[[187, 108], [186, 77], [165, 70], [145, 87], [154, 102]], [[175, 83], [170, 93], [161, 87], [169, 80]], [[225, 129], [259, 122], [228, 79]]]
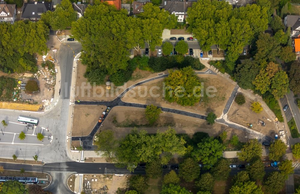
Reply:
[[[97, 101], [113, 100], [129, 86], [137, 82], [140, 82], [142, 80], [158, 76], [157, 73], [152, 73], [149, 71], [143, 71], [137, 69], [132, 74], [132, 80], [126, 82], [124, 86], [116, 87], [113, 86], [112, 84], [111, 89], [106, 90], [105, 84], [94, 87], [93, 84], [88, 83], [87, 79], [83, 76], [85, 70], [86, 70], [86, 66], [82, 65], [82, 63], [78, 61], [77, 76], [76, 76], [76, 97], [75, 97], [76, 100], [97, 100]], [[167, 72], [168, 72], [167, 70], [164, 71], [164, 73]], [[86, 87], [87, 85], [90, 85], [91, 87], [90, 88]]]

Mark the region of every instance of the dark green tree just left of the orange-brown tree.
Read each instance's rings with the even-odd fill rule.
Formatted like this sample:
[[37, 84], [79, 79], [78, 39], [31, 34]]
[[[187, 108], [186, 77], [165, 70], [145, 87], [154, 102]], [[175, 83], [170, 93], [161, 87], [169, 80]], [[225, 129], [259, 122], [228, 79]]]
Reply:
[[241, 88], [254, 89], [252, 82], [255, 80], [258, 73], [259, 65], [256, 61], [246, 59], [241, 64], [237, 65], [234, 77]]

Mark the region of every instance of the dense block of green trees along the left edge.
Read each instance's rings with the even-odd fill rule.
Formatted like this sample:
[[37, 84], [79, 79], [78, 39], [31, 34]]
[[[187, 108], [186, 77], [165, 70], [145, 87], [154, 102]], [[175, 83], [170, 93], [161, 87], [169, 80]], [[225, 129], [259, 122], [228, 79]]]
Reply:
[[0, 70], [4, 73], [37, 71], [33, 54], [48, 51], [48, 27], [42, 21], [16, 21], [1, 23], [0, 33], [3, 35], [0, 37]]

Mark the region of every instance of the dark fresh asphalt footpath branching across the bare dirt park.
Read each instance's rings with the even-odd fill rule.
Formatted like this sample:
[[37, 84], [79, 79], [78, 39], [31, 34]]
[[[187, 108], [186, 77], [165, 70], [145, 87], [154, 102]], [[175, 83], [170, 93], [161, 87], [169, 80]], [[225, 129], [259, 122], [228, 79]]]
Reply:
[[[200, 72], [200, 71], [196, 71], [195, 74], [212, 74], [212, 75], [216, 75], [215, 72], [211, 71], [210, 69], [206, 70], [205, 72]], [[146, 108], [146, 104], [138, 104], [138, 103], [131, 103], [131, 102], [123, 102], [121, 100], [121, 98], [131, 89], [140, 86], [144, 83], [153, 81], [153, 80], [158, 80], [158, 79], [162, 79], [167, 77], [169, 74], [164, 74], [164, 75], [160, 75], [157, 77], [152, 77], [150, 79], [147, 80], [143, 80], [140, 81], [128, 88], [126, 88], [118, 97], [116, 97], [114, 100], [112, 101], [80, 101], [77, 102], [75, 101], [75, 105], [105, 105], [107, 107], [110, 108], [114, 108], [116, 106], [126, 106], [126, 107], [134, 107], [134, 108]], [[161, 108], [162, 111], [164, 112], [169, 112], [169, 113], [174, 113], [174, 114], [180, 114], [180, 115], [184, 115], [184, 116], [189, 116], [189, 117], [194, 117], [194, 118], [198, 118], [198, 119], [203, 119], [206, 120], [206, 116], [205, 115], [201, 115], [201, 114], [196, 114], [196, 113], [191, 113], [191, 112], [187, 112], [187, 111], [181, 111], [181, 110], [177, 110], [177, 109], [172, 109], [172, 108], [164, 108], [164, 107], [159, 107]], [[109, 113], [108, 113], [109, 114]], [[94, 128], [92, 129], [91, 133], [87, 136], [76, 136], [76, 137], [72, 137], [72, 141], [82, 141], [82, 147], [85, 150], [95, 150], [96, 146], [93, 145], [93, 138], [95, 136], [95, 134], [97, 133], [97, 131], [100, 129], [102, 123], [104, 122], [105, 118], [107, 117], [106, 114], [103, 118], [103, 121], [101, 123], [97, 122], [96, 125], [94, 126]], [[100, 117], [100, 116], [99, 116]]]

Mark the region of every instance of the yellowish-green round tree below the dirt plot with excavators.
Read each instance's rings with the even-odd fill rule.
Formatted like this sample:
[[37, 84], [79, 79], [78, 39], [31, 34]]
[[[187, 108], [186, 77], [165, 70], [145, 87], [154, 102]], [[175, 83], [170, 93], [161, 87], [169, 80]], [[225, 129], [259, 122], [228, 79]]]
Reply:
[[240, 153], [237, 153], [241, 161], [251, 161], [262, 156], [262, 145], [257, 139], [251, 139], [247, 142]]

